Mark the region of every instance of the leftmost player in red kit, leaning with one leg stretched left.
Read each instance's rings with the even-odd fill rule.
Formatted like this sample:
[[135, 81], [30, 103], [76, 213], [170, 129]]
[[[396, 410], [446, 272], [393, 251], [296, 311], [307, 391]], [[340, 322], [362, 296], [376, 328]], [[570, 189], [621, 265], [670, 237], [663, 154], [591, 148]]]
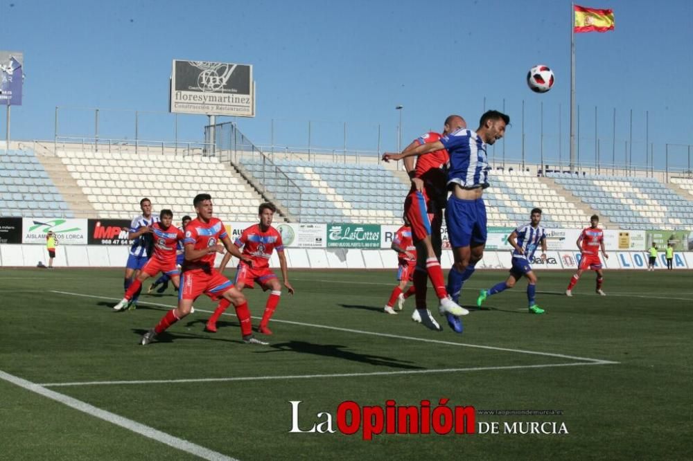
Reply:
[[128, 290], [125, 291], [125, 296], [121, 302], [113, 307], [116, 311], [121, 311], [128, 307], [135, 293], [142, 287], [142, 282], [157, 275], [159, 272], [168, 275], [173, 280], [173, 285], [178, 288], [178, 274], [180, 272], [175, 264], [175, 257], [178, 241], [183, 239], [183, 232], [176, 226], [171, 226], [173, 211], [161, 210], [159, 219], [159, 222], [155, 222], [151, 226], [150, 235], [154, 239], [154, 253], [139, 271], [137, 278], [130, 284]]

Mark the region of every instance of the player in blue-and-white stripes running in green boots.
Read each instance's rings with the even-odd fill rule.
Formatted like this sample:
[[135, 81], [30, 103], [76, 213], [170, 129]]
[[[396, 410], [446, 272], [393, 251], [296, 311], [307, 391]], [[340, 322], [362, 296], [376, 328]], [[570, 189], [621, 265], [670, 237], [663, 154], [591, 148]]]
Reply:
[[495, 284], [491, 289], [482, 290], [477, 298], [477, 306], [491, 295], [512, 288], [520, 278], [527, 277], [527, 301], [530, 314], [543, 314], [544, 309], [534, 302], [536, 293], [536, 275], [529, 264], [534, 260], [534, 252], [541, 245], [541, 259], [546, 262], [546, 230], [539, 226], [541, 222], [541, 210], [534, 208], [531, 214], [532, 222], [519, 226], [508, 236], [508, 243], [514, 248], [510, 276], [505, 282]]

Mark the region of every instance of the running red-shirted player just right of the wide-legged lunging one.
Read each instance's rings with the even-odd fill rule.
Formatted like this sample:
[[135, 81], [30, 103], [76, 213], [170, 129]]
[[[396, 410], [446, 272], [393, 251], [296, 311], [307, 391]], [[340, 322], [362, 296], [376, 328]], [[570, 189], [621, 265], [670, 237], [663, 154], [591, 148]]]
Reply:
[[[243, 230], [243, 233], [234, 242], [238, 248], [243, 247], [243, 255], [252, 260], [252, 265], [247, 264], [243, 260], [238, 263], [235, 281], [236, 288], [239, 291], [245, 287], [252, 289], [253, 285], [257, 283], [262, 287], [263, 291], [271, 290], [270, 297], [267, 298], [267, 304], [265, 305], [265, 313], [258, 326], [258, 332], [262, 334], [272, 334], [272, 330], [267, 327], [267, 323], [270, 322], [274, 309], [277, 309], [279, 297], [281, 296], [281, 285], [279, 280], [277, 280], [277, 275], [270, 269], [270, 257], [274, 250], [277, 250], [277, 256], [279, 257], [279, 268], [284, 280], [284, 287], [286, 287], [289, 293], [294, 293], [294, 288], [289, 283], [281, 234], [279, 230], [272, 227], [272, 219], [276, 211], [277, 208], [270, 203], [261, 204], [258, 208], [260, 222]], [[224, 271], [230, 259], [231, 253], [224, 255], [224, 259], [219, 266], [220, 272]], [[216, 332], [216, 321], [225, 309], [226, 306], [221, 304], [217, 307], [214, 314], [207, 320], [207, 331]]]

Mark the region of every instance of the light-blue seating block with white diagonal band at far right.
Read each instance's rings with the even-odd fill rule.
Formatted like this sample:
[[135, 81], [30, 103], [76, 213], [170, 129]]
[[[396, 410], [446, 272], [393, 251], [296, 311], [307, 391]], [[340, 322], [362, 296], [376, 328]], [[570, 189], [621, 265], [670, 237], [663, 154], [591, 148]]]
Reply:
[[550, 173], [566, 190], [620, 226], [653, 230], [693, 225], [693, 203], [656, 179]]

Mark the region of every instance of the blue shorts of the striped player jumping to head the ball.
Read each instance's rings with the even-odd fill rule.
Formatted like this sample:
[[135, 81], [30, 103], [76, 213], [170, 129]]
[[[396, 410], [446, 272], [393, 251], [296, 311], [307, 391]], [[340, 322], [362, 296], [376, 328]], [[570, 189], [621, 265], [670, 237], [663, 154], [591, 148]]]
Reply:
[[445, 221], [450, 246], [453, 248], [486, 243], [484, 199], [462, 200], [451, 195], [445, 210]]

